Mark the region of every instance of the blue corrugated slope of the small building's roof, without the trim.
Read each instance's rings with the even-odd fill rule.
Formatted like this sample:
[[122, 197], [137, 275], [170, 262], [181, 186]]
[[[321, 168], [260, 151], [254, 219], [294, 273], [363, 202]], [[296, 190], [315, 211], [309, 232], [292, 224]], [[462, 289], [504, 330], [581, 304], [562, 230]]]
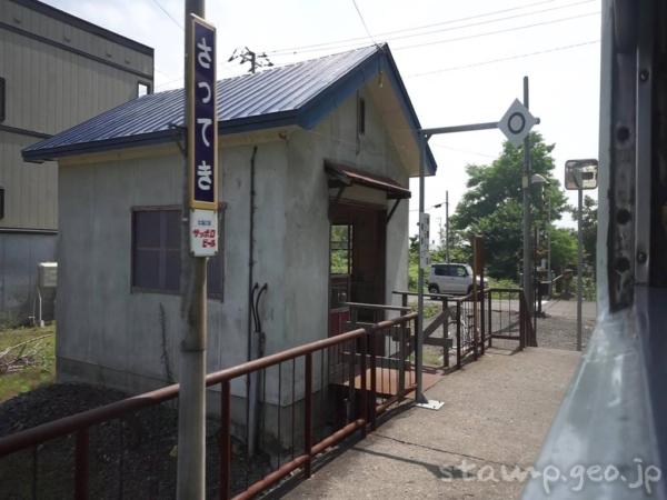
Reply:
[[[376, 47], [303, 61], [217, 86], [222, 122], [296, 112], [368, 58]], [[81, 123], [27, 151], [166, 132], [183, 126], [182, 89], [145, 96]]]

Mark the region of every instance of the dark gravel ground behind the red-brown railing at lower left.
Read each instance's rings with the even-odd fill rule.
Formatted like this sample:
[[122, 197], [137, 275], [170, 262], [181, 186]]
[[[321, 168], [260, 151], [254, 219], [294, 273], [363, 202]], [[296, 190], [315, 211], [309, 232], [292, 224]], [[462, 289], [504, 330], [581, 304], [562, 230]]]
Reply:
[[[0, 404], [0, 437], [49, 420], [107, 404], [126, 394], [86, 384], [52, 384]], [[170, 499], [176, 493], [177, 417], [173, 403], [151, 407], [90, 429], [90, 498]], [[207, 492], [218, 497], [218, 422], [207, 424]], [[0, 458], [0, 498], [64, 499], [73, 496], [74, 438], [48, 441]], [[232, 442], [232, 492], [246, 486], [247, 461]], [[37, 463], [37, 474], [34, 468]], [[266, 458], [253, 463], [250, 482], [268, 469]]]

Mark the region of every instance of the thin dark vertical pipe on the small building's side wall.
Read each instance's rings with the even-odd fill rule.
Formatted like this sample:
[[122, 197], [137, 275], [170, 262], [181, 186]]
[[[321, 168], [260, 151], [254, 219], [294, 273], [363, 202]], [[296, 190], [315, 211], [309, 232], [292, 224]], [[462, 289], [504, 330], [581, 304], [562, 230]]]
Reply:
[[[253, 268], [255, 268], [255, 159], [257, 157], [257, 146], [252, 148], [252, 156], [250, 157], [250, 236], [248, 241], [248, 342], [247, 342], [247, 360], [251, 361], [256, 353], [253, 347], [257, 342], [252, 341], [253, 328], [252, 328], [252, 310], [253, 310], [253, 298], [255, 289], [252, 288], [253, 282]], [[246, 447], [248, 456], [255, 453], [255, 420], [257, 418], [257, 373], [250, 373], [246, 377]]]

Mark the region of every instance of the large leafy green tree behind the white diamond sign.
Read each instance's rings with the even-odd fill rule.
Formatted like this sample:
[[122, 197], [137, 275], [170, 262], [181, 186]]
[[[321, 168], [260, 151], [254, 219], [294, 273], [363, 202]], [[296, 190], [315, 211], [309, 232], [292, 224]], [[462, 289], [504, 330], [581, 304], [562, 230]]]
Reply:
[[[554, 144], [545, 143], [542, 137], [529, 136], [531, 171], [542, 176], [548, 184], [534, 186], [531, 206], [534, 223], [545, 228], [546, 221], [558, 220], [567, 208], [566, 197], [559, 181], [554, 177]], [[451, 226], [465, 234], [481, 234], [485, 239], [485, 258], [488, 272], [494, 278], [517, 279], [522, 257], [522, 204], [521, 178], [524, 150], [505, 142], [502, 153], [490, 164], [469, 164], [468, 191], [450, 218]], [[547, 203], [550, 204], [550, 217]], [[552, 231], [549, 222], [548, 231]], [[558, 233], [565, 238], [565, 233]], [[575, 240], [576, 244], [576, 240]], [[551, 259], [554, 260], [554, 259]]]

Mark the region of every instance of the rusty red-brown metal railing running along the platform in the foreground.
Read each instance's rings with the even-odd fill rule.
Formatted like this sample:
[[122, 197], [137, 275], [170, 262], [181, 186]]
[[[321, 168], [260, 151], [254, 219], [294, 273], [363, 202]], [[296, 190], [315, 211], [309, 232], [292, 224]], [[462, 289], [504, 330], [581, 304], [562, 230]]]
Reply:
[[[416, 331], [415, 324], [411, 329], [409, 328], [416, 318], [417, 313], [410, 313], [397, 319], [381, 321], [368, 328], [359, 328], [337, 337], [310, 342], [207, 376], [207, 387], [220, 386], [219, 497], [227, 499], [235, 493], [236, 499], [251, 498], [299, 468], [303, 470], [305, 477], [309, 477], [312, 459], [317, 454], [357, 430], [365, 436], [368, 427], [371, 430], [375, 429], [377, 414], [404, 399], [415, 389], [414, 372], [408, 361], [410, 349], [406, 348], [406, 344], [411, 342], [411, 336]], [[381, 356], [376, 354], [376, 350], [380, 344], [378, 339], [386, 341], [386, 346], [397, 346], [398, 350], [394, 349], [392, 352], [391, 348], [388, 351], [382, 348]], [[297, 364], [297, 360], [302, 360], [302, 363]], [[316, 361], [319, 361], [319, 372], [316, 371]], [[283, 390], [283, 379], [286, 378], [282, 370], [283, 363], [291, 364], [291, 394], [289, 390]], [[302, 366], [303, 371], [302, 376], [297, 377], [299, 366]], [[399, 367], [400, 369], [391, 367]], [[269, 376], [278, 374], [278, 378], [267, 378], [269, 370], [273, 370]], [[232, 484], [231, 472], [233, 461], [232, 381], [239, 378], [248, 378], [253, 373], [258, 374], [261, 380], [260, 392], [262, 396], [259, 400], [263, 411], [261, 412], [260, 436], [272, 436], [273, 443], [277, 443], [275, 448], [278, 451], [273, 450], [271, 454], [273, 459], [276, 454], [278, 457], [276, 466], [272, 467], [269, 473], [263, 474], [261, 479], [253, 482], [249, 482], [248, 474], [246, 474], [246, 483], [239, 487]], [[319, 376], [319, 380], [317, 380], [316, 373]], [[389, 390], [382, 389], [381, 392], [378, 392], [378, 376], [382, 386], [385, 379], [388, 378]], [[287, 378], [289, 379], [289, 377]], [[271, 380], [273, 387], [269, 387]], [[302, 391], [297, 391], [298, 380], [303, 382]], [[391, 388], [391, 380], [395, 380], [394, 389]], [[319, 387], [315, 387], [313, 382], [319, 382]], [[267, 424], [268, 402], [271, 399], [271, 391], [268, 388], [272, 389], [273, 398], [277, 396], [272, 409], [272, 414], [277, 418], [273, 419], [273, 422]], [[331, 388], [348, 398], [336, 399], [336, 394], [329, 393]], [[302, 394], [298, 392], [302, 392]], [[173, 384], [0, 438], [0, 458], [21, 450], [32, 449], [33, 481], [37, 482], [38, 447], [48, 441], [73, 434], [76, 437], [74, 497], [86, 499], [90, 494], [90, 429], [93, 426], [113, 419], [127, 418], [137, 411], [173, 400], [178, 397], [178, 393], [179, 386]], [[317, 393], [319, 393], [319, 412], [315, 414], [313, 408]], [[286, 396], [291, 396], [291, 399], [286, 398]], [[283, 399], [288, 399], [287, 403], [283, 403]], [[329, 399], [334, 399], [334, 404], [327, 403]], [[340, 410], [341, 404], [347, 408], [342, 419], [336, 418], [334, 414]], [[299, 423], [301, 427], [300, 437], [297, 432], [296, 414], [299, 406], [302, 406], [302, 423]], [[334, 411], [330, 411], [331, 409]], [[285, 413], [291, 416], [291, 426], [283, 424], [282, 417]], [[318, 419], [317, 426], [315, 418]], [[253, 422], [246, 422], [247, 428]], [[291, 428], [289, 436], [291, 442], [287, 447], [283, 433], [286, 427]], [[319, 439], [317, 439], [318, 437]], [[316, 439], [317, 442], [313, 442]], [[270, 447], [267, 446], [266, 448]], [[282, 453], [286, 449], [288, 460], [282, 461]], [[247, 454], [250, 456], [252, 450], [248, 449]], [[30, 467], [28, 463], [24, 466]], [[37, 497], [34, 491], [37, 491], [37, 488], [33, 484], [33, 497]], [[120, 497], [122, 497], [122, 487], [120, 492]]]

